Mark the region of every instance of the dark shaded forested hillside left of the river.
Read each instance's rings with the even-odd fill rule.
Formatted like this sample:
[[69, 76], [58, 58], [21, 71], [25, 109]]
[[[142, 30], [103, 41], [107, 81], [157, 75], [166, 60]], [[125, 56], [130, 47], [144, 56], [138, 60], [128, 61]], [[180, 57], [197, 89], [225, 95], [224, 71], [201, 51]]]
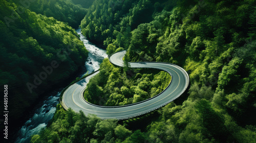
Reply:
[[10, 122], [19, 120], [42, 93], [68, 79], [88, 56], [65, 22], [15, 2], [0, 1], [0, 86], [8, 85]]

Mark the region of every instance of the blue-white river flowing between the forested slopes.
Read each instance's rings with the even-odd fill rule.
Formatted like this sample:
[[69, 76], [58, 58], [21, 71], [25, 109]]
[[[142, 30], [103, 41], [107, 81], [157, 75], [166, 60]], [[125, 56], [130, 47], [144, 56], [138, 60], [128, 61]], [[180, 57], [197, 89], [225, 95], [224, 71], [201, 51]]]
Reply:
[[[88, 59], [79, 75], [79, 77], [82, 77], [85, 74], [90, 74], [99, 69], [100, 63], [102, 63], [104, 58], [108, 58], [108, 55], [105, 50], [99, 49], [95, 44], [89, 42], [86, 37], [81, 34], [81, 29], [77, 29], [76, 32], [89, 51]], [[52, 91], [46, 99], [37, 104], [38, 106], [32, 110], [33, 113], [30, 114], [31, 117], [29, 120], [26, 121], [18, 131], [18, 137], [15, 140], [16, 143], [30, 142], [31, 135], [37, 134], [41, 129], [46, 128], [56, 111], [56, 105], [59, 103], [58, 99], [61, 90], [63, 90], [63, 88]]]

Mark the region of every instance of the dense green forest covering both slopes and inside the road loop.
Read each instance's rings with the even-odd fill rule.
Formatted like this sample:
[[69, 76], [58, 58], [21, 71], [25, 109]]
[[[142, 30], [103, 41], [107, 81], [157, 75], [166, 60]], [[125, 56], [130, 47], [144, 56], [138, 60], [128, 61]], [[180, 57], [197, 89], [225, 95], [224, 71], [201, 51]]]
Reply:
[[[0, 0], [0, 85], [9, 88], [9, 119], [84, 64], [88, 52], [72, 29], [81, 21], [83, 35], [109, 55], [127, 50], [126, 63], [183, 67], [188, 92], [125, 121], [58, 104], [31, 142], [255, 142], [255, 6], [255, 0]], [[100, 69], [84, 92], [98, 105], [136, 103], [170, 81], [164, 71], [115, 67], [108, 59]]]

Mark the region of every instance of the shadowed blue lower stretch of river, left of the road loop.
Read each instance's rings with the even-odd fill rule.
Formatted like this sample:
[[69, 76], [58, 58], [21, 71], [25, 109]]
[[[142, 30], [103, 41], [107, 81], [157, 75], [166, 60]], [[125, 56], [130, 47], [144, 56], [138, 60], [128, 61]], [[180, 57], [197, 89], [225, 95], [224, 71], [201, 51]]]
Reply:
[[26, 112], [21, 120], [13, 125], [13, 134], [10, 138], [11, 142], [26, 142], [30, 140], [30, 136], [38, 133], [41, 128], [45, 128], [56, 111], [56, 105], [59, 103], [61, 91], [74, 81], [82, 73], [82, 67], [70, 76], [67, 80], [52, 87], [49, 91], [42, 94], [36, 102], [30, 107], [31, 110]]

